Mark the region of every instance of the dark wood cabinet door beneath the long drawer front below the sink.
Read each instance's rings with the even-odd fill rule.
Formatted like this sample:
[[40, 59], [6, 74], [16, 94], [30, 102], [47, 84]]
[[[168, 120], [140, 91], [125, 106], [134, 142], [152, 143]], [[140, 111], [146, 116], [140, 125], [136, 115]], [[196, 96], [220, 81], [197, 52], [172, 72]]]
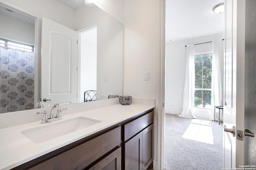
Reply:
[[121, 170], [121, 147], [108, 154], [89, 170]]

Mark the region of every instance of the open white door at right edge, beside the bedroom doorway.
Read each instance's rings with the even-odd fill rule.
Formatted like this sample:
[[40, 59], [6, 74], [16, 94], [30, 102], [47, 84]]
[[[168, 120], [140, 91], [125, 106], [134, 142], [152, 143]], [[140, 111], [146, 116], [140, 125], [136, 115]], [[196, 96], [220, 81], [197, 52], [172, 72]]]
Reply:
[[244, 140], [237, 139], [237, 130], [244, 131], [245, 76], [245, 0], [226, 0], [226, 58], [224, 127], [224, 168], [244, 165]]

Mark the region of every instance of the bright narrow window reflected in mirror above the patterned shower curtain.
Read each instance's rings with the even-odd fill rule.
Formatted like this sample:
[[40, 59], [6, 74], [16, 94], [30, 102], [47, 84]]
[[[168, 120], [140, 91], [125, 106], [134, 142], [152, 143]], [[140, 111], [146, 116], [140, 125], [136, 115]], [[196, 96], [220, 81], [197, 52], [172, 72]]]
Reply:
[[18, 43], [16, 41], [10, 41], [7, 39], [1, 39], [0, 38], [0, 46], [12, 48], [12, 49], [18, 49], [21, 51], [27, 51], [27, 52], [34, 52], [34, 45], [28, 45], [25, 43]]

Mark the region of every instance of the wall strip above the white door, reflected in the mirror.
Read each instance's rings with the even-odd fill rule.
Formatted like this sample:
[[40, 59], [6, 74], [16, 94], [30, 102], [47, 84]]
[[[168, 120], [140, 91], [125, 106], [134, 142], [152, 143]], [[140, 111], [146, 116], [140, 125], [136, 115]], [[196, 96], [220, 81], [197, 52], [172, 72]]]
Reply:
[[60, 0], [0, 0], [0, 2], [9, 4], [38, 18], [44, 16], [66, 27], [75, 29], [74, 8]]

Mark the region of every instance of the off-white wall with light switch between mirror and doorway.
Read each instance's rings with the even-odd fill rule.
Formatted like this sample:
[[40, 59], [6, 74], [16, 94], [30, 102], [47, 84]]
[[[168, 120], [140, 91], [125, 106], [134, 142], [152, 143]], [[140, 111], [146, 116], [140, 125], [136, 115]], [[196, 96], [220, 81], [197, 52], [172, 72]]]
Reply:
[[[124, 0], [124, 95], [156, 99], [154, 160], [157, 160], [160, 0]], [[150, 80], [144, 80], [150, 72]]]

